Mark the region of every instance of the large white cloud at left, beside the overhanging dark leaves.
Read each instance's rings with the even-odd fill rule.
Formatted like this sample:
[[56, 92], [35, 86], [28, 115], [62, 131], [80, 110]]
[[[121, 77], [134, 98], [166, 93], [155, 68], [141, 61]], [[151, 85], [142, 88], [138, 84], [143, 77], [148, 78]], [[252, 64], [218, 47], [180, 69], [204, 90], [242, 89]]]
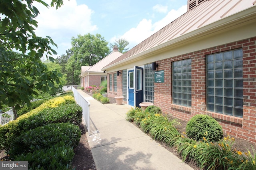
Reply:
[[[45, 2], [50, 4], [51, 0]], [[34, 6], [40, 12], [36, 19], [38, 28], [35, 32], [41, 37], [50, 36], [58, 45], [56, 51], [61, 51], [58, 55], [71, 47], [71, 37], [92, 33], [98, 29], [91, 21], [93, 11], [85, 4], [77, 5], [76, 0], [64, 0], [64, 5], [58, 10], [55, 7], [46, 8], [42, 4]], [[69, 44], [66, 39], [69, 39]]]

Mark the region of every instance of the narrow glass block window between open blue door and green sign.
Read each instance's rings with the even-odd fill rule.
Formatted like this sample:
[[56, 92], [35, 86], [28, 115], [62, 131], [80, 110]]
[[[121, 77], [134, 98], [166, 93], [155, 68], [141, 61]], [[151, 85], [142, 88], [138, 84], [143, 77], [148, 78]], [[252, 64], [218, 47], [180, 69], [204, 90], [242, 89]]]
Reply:
[[154, 71], [152, 64], [145, 65], [145, 102], [154, 103]]

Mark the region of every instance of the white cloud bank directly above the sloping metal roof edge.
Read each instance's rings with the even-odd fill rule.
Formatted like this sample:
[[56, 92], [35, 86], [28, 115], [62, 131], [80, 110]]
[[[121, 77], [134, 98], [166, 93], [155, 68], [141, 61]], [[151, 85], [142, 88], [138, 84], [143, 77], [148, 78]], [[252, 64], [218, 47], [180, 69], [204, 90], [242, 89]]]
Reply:
[[[129, 46], [131, 49], [135, 45], [138, 45], [139, 43], [144, 41], [146, 38], [150, 37], [152, 34], [162, 29], [164, 26], [166, 26], [170, 22], [180, 17], [186, 11], [187, 11], [186, 5], [182, 6], [178, 10], [171, 10], [162, 20], [159, 20], [153, 24], [152, 24], [152, 20], [143, 19], [142, 21], [140, 21], [137, 27], [131, 28], [130, 30], [126, 31], [123, 35], [118, 36], [118, 38], [121, 37], [126, 39], [130, 43]], [[115, 36], [111, 39], [111, 41], [114, 41], [114, 39], [118, 39], [118, 38]]]

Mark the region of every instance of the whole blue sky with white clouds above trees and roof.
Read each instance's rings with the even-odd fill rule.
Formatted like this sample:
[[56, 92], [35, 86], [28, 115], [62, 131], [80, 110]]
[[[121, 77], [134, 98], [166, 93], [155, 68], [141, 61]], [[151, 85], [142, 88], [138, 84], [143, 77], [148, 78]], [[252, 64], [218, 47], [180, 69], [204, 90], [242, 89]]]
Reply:
[[187, 0], [64, 0], [58, 10], [34, 6], [40, 12], [36, 35], [52, 37], [62, 55], [71, 48], [72, 37], [87, 33], [99, 33], [110, 43], [124, 38], [132, 49], [184, 14]]

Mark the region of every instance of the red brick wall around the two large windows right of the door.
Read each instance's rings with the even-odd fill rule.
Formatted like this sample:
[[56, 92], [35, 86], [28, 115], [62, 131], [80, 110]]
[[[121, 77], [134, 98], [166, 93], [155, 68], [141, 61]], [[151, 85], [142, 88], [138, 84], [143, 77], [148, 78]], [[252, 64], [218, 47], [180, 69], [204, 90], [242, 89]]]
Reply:
[[[222, 51], [243, 49], [244, 106], [243, 118], [206, 111], [205, 56]], [[192, 60], [192, 107], [172, 104], [172, 62]], [[224, 133], [256, 143], [256, 37], [209, 49], [195, 51], [157, 61], [164, 70], [164, 83], [154, 83], [154, 104], [162, 111], [182, 120], [190, 120], [196, 114], [207, 114], [218, 120]]]

